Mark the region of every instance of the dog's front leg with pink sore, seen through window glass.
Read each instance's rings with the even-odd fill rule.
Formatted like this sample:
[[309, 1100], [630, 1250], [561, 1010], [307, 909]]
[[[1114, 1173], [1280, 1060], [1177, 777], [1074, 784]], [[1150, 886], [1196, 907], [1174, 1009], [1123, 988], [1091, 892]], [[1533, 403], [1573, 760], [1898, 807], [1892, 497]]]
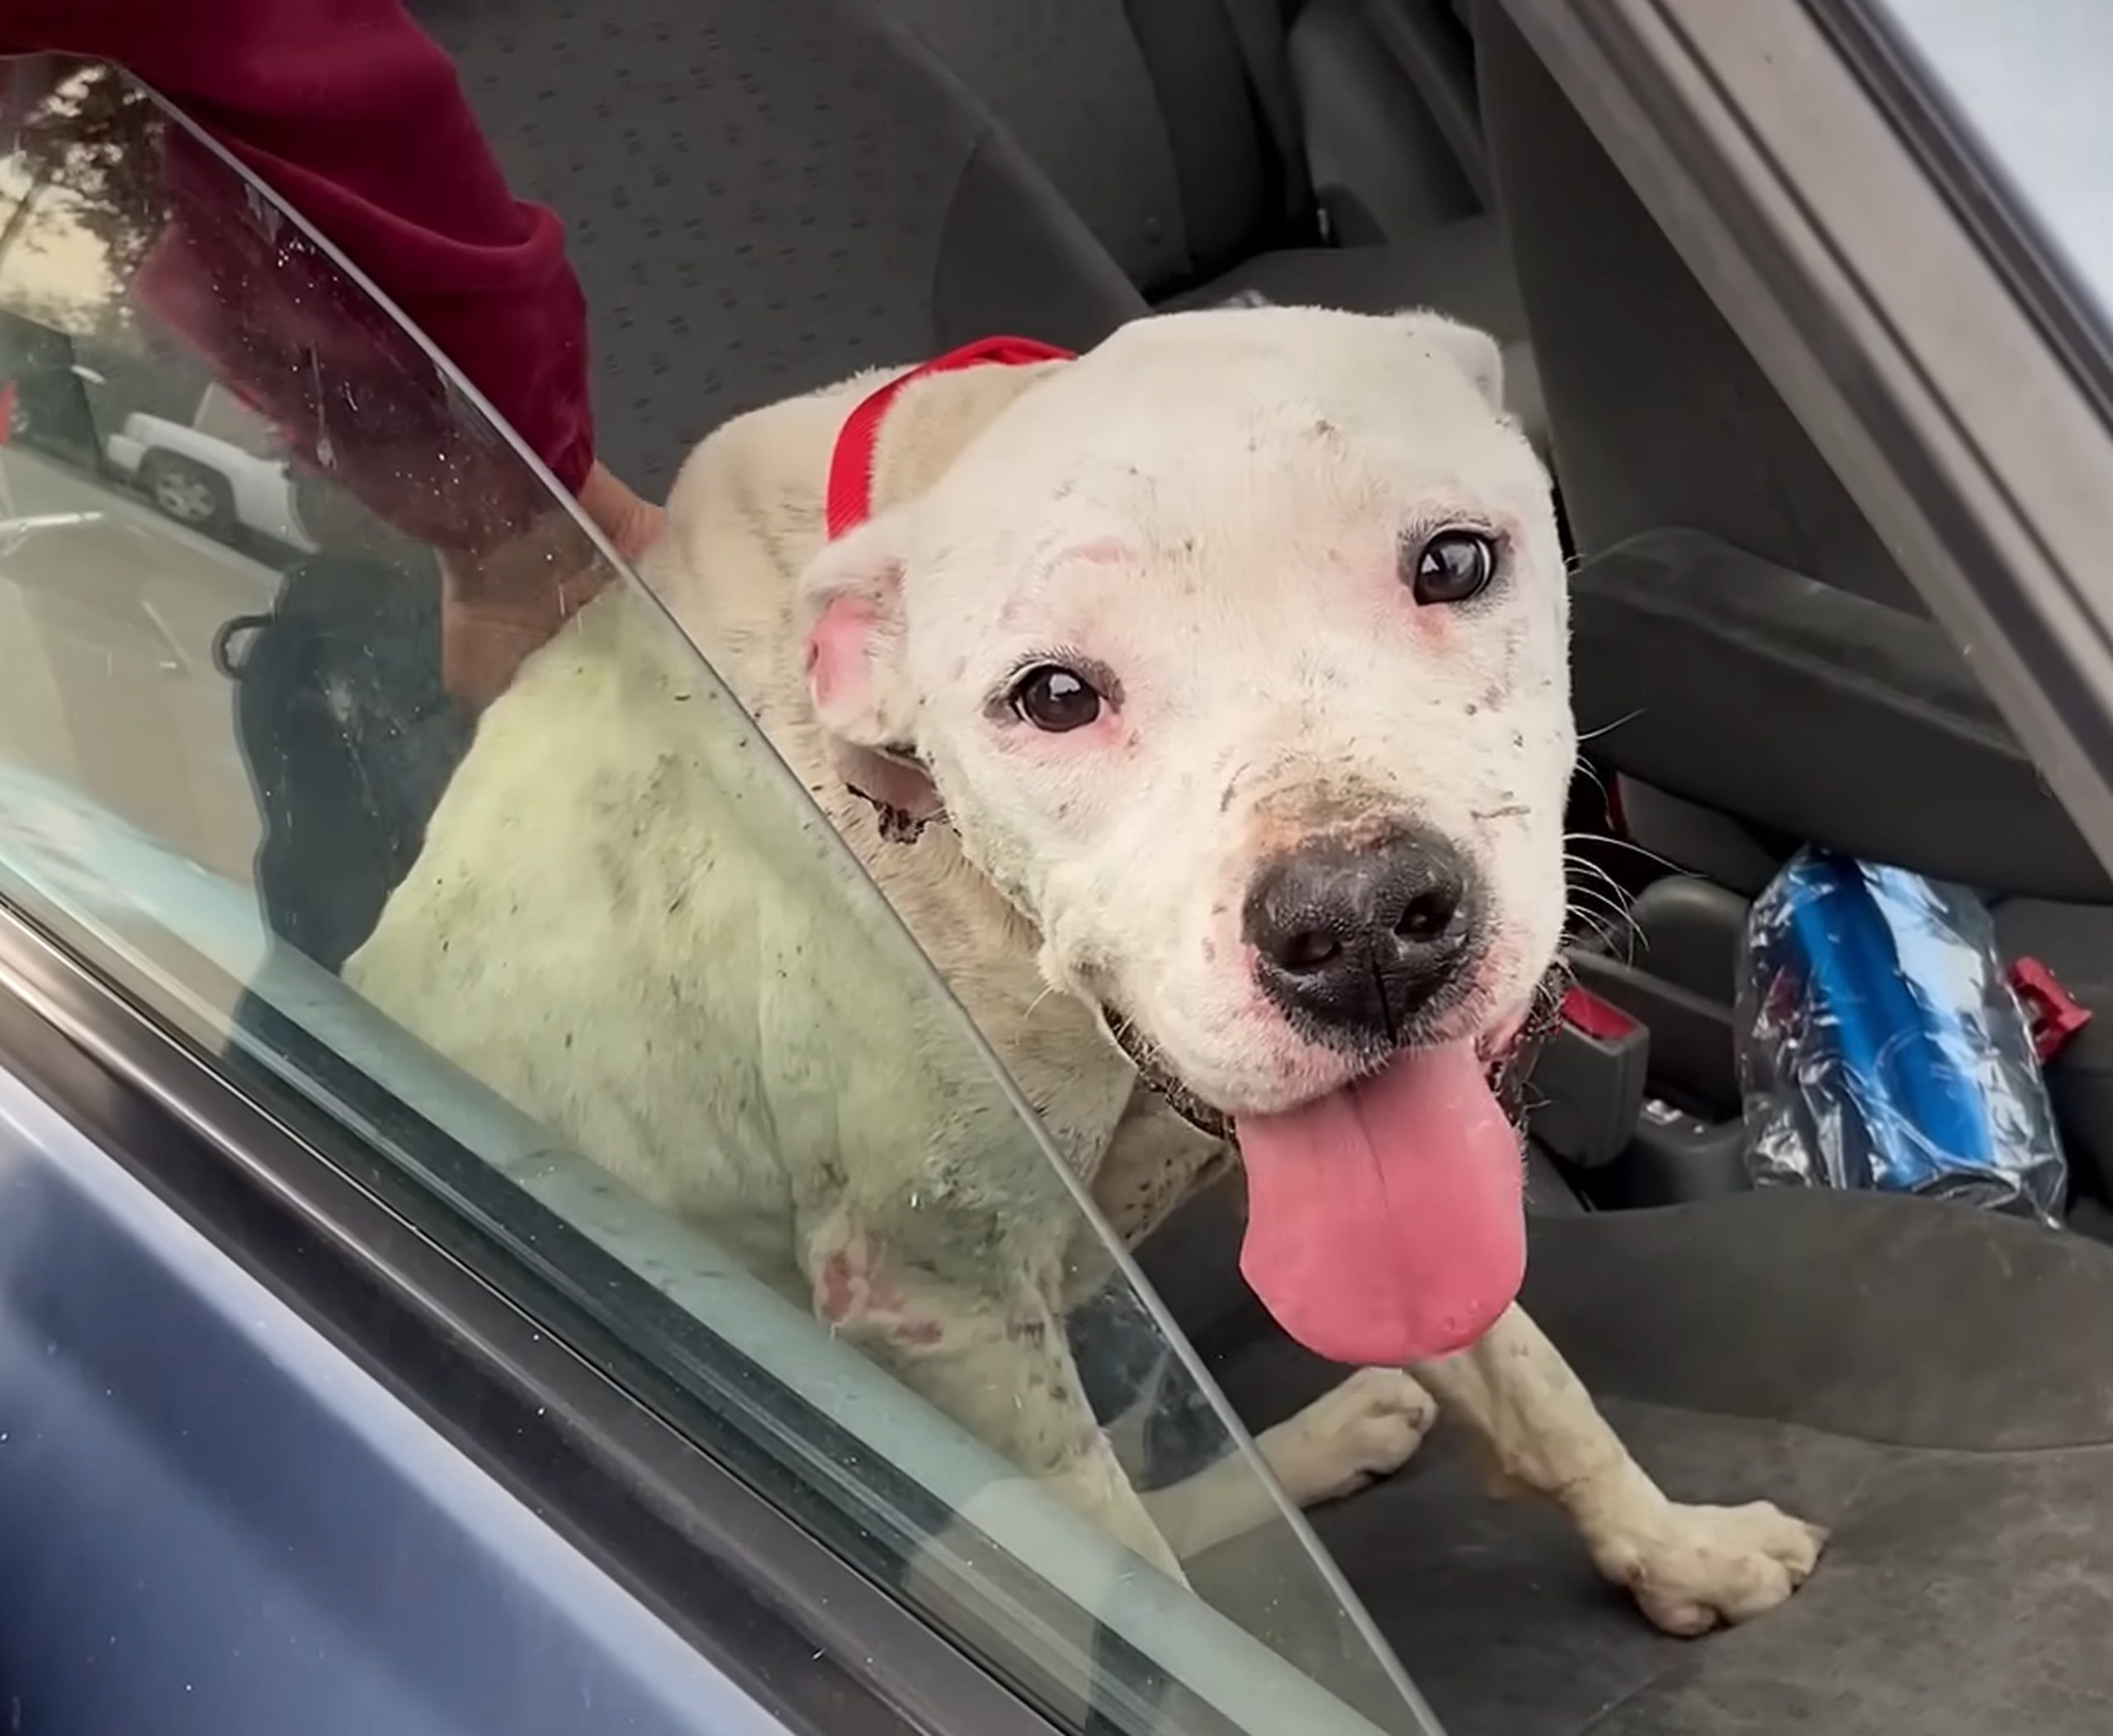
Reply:
[[964, 1282], [828, 1212], [807, 1235], [816, 1316], [1118, 1544], [1173, 1580], [1181, 1563], [1086, 1402], [1052, 1286]]

